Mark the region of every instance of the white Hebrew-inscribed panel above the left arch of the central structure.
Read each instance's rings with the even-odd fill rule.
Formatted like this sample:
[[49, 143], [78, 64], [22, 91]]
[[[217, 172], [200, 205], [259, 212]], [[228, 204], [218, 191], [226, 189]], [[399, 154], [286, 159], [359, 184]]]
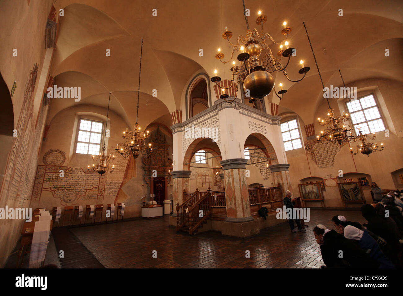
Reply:
[[221, 144], [220, 121], [218, 115], [210, 117], [211, 114], [203, 116], [191, 125], [186, 126], [182, 132], [182, 153], [186, 153], [189, 145], [197, 138], [208, 137]]

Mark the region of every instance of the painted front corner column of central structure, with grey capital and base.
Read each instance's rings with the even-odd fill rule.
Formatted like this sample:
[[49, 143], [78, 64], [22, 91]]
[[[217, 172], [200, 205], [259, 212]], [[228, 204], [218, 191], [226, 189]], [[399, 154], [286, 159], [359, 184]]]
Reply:
[[224, 171], [226, 219], [222, 234], [246, 237], [259, 233], [251, 216], [249, 191], [245, 176], [247, 159], [226, 159], [220, 162]]

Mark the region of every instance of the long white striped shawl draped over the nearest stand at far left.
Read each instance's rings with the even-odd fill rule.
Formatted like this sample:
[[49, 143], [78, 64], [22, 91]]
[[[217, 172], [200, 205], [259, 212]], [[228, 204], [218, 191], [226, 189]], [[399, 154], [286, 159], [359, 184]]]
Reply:
[[39, 268], [45, 261], [46, 248], [48, 247], [50, 237], [50, 222], [51, 219], [35, 222], [31, 253], [29, 254], [29, 268]]

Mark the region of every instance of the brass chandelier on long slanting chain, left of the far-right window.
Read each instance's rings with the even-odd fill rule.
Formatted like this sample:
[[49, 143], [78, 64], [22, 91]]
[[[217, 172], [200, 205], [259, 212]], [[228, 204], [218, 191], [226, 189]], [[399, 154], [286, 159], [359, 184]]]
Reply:
[[[322, 75], [320, 75], [319, 71], [319, 66], [318, 62], [316, 61], [314, 49], [312, 48], [312, 43], [311, 40], [309, 39], [308, 31], [306, 29], [305, 23], [303, 23], [303, 26], [305, 27], [305, 32], [308, 37], [309, 44], [311, 46], [312, 54], [314, 56], [316, 68], [318, 69], [319, 77], [320, 77], [320, 82], [322, 83], [323, 91], [325, 92], [325, 87], [322, 81]], [[340, 71], [340, 69], [339, 69]], [[340, 72], [341, 75], [341, 72]], [[341, 78], [343, 80], [343, 77]], [[344, 84], [344, 81], [343, 81]], [[332, 107], [330, 107], [329, 99], [328, 96], [326, 96], [326, 101], [328, 103], [328, 118], [320, 120], [318, 118], [318, 123], [322, 126], [326, 126], [324, 130], [320, 131], [320, 135], [316, 136], [318, 142], [322, 144], [328, 144], [328, 143], [338, 143], [339, 145], [343, 145], [343, 143], [346, 142], [351, 142], [354, 140], [355, 136], [353, 135], [352, 131], [353, 129], [350, 128], [348, 124], [345, 122], [348, 122], [350, 120], [349, 114], [344, 113], [341, 116], [334, 117], [334, 110]]]

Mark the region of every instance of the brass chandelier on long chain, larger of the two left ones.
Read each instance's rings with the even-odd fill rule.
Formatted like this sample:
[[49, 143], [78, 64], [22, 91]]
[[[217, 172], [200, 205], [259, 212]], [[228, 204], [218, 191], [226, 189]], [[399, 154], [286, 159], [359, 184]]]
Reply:
[[140, 152], [143, 157], [149, 158], [152, 153], [151, 143], [148, 144], [148, 147], [145, 145], [145, 139], [150, 137], [149, 131], [147, 131], [147, 135], [141, 132], [141, 128], [138, 124], [139, 118], [139, 99], [140, 99], [140, 76], [141, 76], [141, 58], [143, 55], [143, 39], [141, 39], [141, 52], [140, 52], [140, 68], [139, 68], [139, 89], [137, 92], [137, 116], [136, 116], [136, 124], [134, 131], [129, 131], [126, 128], [126, 131], [123, 132], [123, 139], [127, 139], [123, 146], [119, 148], [119, 144], [116, 144], [115, 151], [118, 152], [123, 157], [129, 157], [129, 155], [133, 155], [134, 159], [139, 157]]

